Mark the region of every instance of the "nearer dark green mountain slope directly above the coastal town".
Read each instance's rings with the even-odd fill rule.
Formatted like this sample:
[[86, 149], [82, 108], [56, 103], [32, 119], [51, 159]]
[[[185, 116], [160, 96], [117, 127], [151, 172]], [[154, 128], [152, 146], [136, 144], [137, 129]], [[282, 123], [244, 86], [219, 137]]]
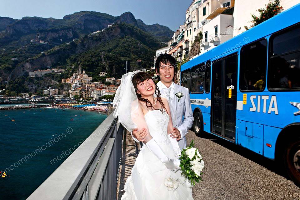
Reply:
[[[93, 77], [93, 81], [103, 81], [99, 77], [103, 71], [120, 78], [125, 61], [130, 61], [135, 68], [149, 68], [153, 65], [155, 50], [160, 47], [162, 43], [148, 32], [133, 24], [116, 22], [103, 31], [55, 46], [17, 64], [8, 76], [7, 89], [16, 93], [35, 93], [47, 86], [62, 87], [58, 84], [61, 78], [68, 78], [82, 70]], [[29, 72], [48, 66], [65, 68], [66, 71], [43, 78], [28, 77]]]

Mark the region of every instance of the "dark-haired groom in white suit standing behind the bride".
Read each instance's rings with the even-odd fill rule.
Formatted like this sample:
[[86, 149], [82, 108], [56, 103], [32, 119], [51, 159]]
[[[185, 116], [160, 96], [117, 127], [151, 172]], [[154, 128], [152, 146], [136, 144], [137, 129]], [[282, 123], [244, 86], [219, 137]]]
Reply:
[[[173, 128], [170, 137], [177, 138], [179, 148], [182, 150], [187, 146], [185, 135], [188, 129], [192, 127], [194, 120], [189, 91], [173, 82], [177, 73], [176, 60], [173, 56], [167, 53], [159, 55], [155, 63], [155, 71], [159, 80], [157, 87], [162, 96], [167, 97], [171, 111], [175, 112], [173, 122], [177, 125]], [[134, 129], [132, 135], [135, 141], [143, 142], [142, 138], [145, 137], [146, 133], [145, 130], [137, 131]]]

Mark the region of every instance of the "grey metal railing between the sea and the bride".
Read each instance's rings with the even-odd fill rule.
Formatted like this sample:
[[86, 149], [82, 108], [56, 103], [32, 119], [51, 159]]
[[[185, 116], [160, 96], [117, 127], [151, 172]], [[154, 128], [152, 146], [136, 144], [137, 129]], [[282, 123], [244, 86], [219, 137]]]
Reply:
[[124, 128], [110, 114], [27, 200], [115, 200]]

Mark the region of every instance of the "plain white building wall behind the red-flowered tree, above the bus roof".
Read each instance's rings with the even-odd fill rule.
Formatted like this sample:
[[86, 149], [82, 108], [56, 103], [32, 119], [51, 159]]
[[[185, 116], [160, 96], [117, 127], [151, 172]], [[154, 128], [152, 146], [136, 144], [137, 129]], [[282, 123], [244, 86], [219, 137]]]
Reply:
[[[266, 8], [269, 0], [252, 0], [252, 1], [235, 1], [234, 5], [234, 32], [233, 36], [237, 36], [238, 34], [246, 31], [244, 26], [251, 26], [251, 14], [259, 17], [259, 12], [257, 9]], [[287, 10], [300, 3], [299, 0], [280, 0], [280, 5], [283, 7], [283, 11]], [[284, 23], [284, 22], [283, 22]]]

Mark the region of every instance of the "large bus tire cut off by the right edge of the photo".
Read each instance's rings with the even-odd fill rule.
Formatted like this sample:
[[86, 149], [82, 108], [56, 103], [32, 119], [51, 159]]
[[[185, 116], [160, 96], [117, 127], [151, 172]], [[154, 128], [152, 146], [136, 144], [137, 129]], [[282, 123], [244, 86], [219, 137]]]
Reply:
[[300, 138], [287, 144], [283, 159], [288, 175], [295, 185], [300, 187]]

